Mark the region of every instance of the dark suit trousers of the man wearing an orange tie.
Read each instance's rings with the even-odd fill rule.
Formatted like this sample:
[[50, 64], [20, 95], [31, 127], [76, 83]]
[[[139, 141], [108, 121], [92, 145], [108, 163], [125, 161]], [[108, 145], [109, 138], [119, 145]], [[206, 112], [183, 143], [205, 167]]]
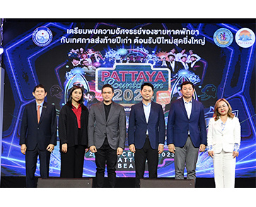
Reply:
[[49, 177], [50, 151], [40, 151], [37, 146], [34, 150], [25, 152], [26, 187], [36, 187], [35, 170], [37, 167], [37, 156], [40, 160], [40, 175], [42, 178]]

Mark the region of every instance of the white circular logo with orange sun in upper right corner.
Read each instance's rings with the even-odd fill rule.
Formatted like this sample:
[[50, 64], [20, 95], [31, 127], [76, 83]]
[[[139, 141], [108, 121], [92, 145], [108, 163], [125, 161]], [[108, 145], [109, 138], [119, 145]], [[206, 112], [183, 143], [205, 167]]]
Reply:
[[254, 44], [255, 34], [248, 28], [240, 29], [235, 34], [235, 42], [243, 48], [248, 48]]

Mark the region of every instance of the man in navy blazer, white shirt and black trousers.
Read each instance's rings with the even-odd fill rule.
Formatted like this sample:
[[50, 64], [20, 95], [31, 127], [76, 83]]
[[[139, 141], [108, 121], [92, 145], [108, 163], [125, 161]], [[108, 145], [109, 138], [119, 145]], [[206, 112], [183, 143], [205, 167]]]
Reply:
[[128, 144], [135, 153], [135, 187], [140, 187], [139, 179], [144, 177], [145, 162], [148, 160], [149, 177], [157, 177], [158, 153], [163, 152], [165, 141], [165, 121], [163, 108], [151, 101], [153, 85], [141, 85], [142, 101], [132, 106], [129, 115]]

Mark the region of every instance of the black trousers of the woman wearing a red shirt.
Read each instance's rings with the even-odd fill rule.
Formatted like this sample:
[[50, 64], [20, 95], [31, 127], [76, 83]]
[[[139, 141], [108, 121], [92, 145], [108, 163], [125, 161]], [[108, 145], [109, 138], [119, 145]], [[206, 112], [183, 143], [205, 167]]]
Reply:
[[81, 178], [83, 177], [83, 161], [86, 146], [76, 145], [68, 147], [68, 151], [61, 151], [60, 177]]

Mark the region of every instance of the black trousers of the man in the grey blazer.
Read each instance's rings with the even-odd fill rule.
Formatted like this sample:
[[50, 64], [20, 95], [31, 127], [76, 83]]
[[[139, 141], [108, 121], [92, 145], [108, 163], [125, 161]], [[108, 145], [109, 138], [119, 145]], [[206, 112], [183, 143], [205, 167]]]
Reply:
[[96, 171], [96, 187], [103, 187], [105, 165], [107, 163], [107, 177], [110, 187], [115, 187], [116, 173], [115, 166], [117, 165], [117, 150], [112, 149], [105, 138], [103, 146], [97, 149], [95, 153]]

